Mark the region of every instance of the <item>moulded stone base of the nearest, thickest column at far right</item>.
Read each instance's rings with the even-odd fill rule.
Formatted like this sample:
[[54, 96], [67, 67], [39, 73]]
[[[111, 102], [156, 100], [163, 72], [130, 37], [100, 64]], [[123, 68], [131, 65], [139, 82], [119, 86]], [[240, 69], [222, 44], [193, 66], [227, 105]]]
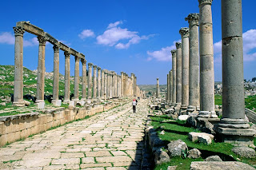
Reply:
[[235, 146], [254, 146], [256, 131], [244, 119], [222, 118], [215, 127], [218, 139]]

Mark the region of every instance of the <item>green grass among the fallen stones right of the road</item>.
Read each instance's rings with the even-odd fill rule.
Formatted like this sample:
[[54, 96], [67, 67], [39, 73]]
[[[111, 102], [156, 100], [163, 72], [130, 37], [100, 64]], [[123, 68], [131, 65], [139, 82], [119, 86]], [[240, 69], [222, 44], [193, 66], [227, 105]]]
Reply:
[[[221, 142], [214, 142], [210, 145], [206, 144], [199, 144], [194, 143], [188, 139], [188, 132], [199, 132], [198, 129], [187, 127], [185, 122], [182, 121], [169, 121], [169, 122], [163, 122], [165, 120], [170, 120], [170, 118], [167, 118], [166, 116], [159, 116], [159, 117], [150, 117], [152, 119], [152, 125], [158, 132], [158, 136], [165, 141], [166, 144], [168, 144], [172, 140], [182, 140], [186, 143], [188, 148], [198, 148], [202, 151], [202, 155], [204, 156], [210, 156], [210, 155], [218, 155], [226, 157], [226, 160], [231, 159], [236, 160], [239, 158], [242, 162], [245, 162], [246, 164], [256, 164], [255, 159], [242, 159], [241, 157], [238, 157], [234, 154], [234, 152], [231, 151], [231, 149], [234, 147], [232, 144], [227, 143], [221, 143]], [[161, 135], [160, 132], [164, 130], [165, 134]], [[256, 143], [256, 140], [254, 139], [254, 144]], [[233, 158], [232, 158], [233, 157]], [[205, 157], [203, 157], [205, 158]], [[223, 158], [222, 158], [223, 159]], [[202, 158], [200, 159], [189, 159], [185, 158], [182, 159], [181, 157], [174, 157], [171, 158], [170, 162], [166, 164], [157, 165], [155, 169], [166, 169], [168, 166], [174, 166], [177, 165], [177, 169], [190, 169], [190, 163], [192, 161], [202, 161]]]

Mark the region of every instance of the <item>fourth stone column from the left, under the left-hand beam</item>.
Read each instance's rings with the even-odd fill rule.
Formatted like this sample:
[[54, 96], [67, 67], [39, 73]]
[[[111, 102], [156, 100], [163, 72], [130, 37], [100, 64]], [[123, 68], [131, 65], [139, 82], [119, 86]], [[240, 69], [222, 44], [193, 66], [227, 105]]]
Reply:
[[64, 102], [70, 101], [70, 53], [64, 52], [65, 55], [65, 97]]

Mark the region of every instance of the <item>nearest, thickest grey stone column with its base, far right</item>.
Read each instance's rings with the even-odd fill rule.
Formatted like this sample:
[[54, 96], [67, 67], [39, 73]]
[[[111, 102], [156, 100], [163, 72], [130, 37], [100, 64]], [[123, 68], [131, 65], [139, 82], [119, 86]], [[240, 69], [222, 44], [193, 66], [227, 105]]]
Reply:
[[254, 146], [255, 131], [245, 120], [242, 1], [222, 1], [222, 141]]

